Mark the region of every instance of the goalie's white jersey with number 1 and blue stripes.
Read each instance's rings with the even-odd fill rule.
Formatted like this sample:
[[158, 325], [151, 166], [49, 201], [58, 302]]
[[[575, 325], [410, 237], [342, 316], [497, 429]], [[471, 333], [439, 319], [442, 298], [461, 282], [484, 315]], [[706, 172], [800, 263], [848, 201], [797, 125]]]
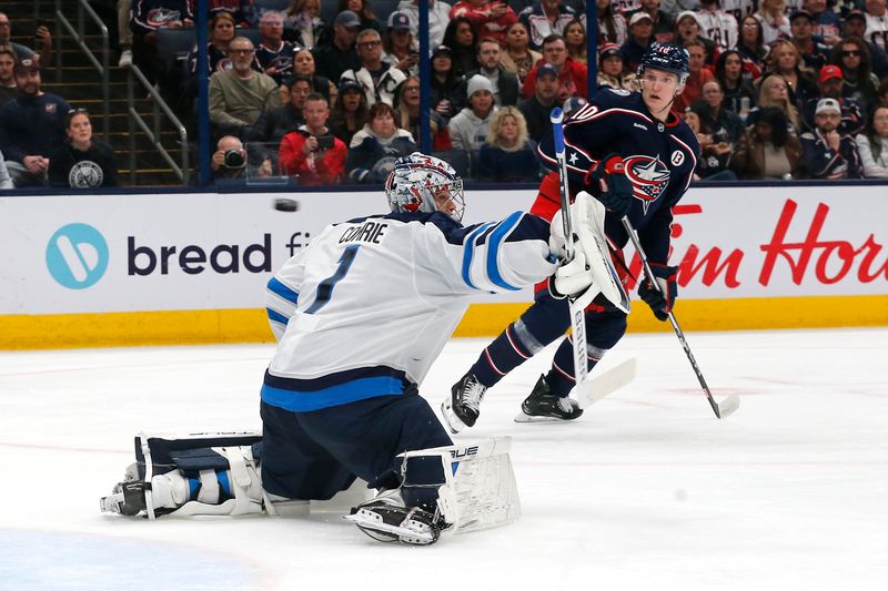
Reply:
[[262, 399], [307, 411], [415, 387], [472, 296], [555, 272], [548, 235], [522, 212], [468, 227], [441, 213], [327, 226], [269, 282], [280, 343]]

